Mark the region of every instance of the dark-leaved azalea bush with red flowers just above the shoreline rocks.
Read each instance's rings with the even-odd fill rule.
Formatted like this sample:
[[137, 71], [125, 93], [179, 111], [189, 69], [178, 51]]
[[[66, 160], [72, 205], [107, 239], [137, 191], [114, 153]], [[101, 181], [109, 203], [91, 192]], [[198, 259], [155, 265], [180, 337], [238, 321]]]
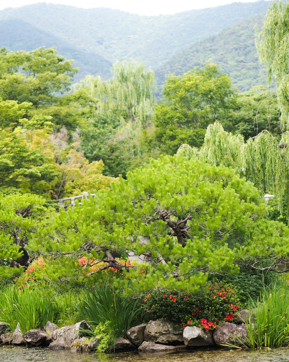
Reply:
[[238, 291], [231, 285], [212, 284], [203, 293], [186, 294], [175, 291], [155, 291], [143, 301], [150, 319], [172, 319], [187, 325], [195, 325], [209, 331], [220, 323], [232, 322], [232, 312], [240, 309]]

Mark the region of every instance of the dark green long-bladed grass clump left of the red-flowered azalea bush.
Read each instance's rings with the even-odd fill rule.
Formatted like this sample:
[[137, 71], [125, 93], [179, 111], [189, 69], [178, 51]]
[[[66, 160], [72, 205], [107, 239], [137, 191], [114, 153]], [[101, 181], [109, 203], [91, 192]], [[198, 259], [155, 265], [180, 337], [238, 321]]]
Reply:
[[83, 319], [92, 325], [107, 323], [117, 337], [125, 336], [127, 330], [141, 323], [144, 317], [139, 300], [109, 287], [87, 292], [77, 308]]

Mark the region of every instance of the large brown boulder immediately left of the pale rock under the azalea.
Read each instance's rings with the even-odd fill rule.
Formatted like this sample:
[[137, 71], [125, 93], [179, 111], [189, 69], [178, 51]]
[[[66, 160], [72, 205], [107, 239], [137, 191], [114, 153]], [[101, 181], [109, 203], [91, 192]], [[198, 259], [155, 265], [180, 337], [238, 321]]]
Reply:
[[183, 344], [183, 327], [171, 327], [170, 321], [150, 320], [146, 325], [144, 340], [168, 345]]

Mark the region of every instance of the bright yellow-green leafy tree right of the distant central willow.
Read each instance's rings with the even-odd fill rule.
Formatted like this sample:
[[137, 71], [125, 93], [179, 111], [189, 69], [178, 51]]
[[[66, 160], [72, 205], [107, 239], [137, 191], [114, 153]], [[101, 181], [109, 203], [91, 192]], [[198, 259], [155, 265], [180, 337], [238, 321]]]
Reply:
[[163, 94], [167, 103], [154, 108], [153, 119], [159, 147], [170, 155], [185, 140], [201, 147], [206, 127], [234, 104], [230, 78], [209, 62], [182, 76], [169, 75]]

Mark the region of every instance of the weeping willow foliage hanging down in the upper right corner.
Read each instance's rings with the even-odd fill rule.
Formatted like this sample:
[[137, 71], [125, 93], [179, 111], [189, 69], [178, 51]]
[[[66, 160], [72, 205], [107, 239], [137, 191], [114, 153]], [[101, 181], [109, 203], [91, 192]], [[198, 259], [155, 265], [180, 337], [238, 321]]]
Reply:
[[264, 25], [258, 33], [256, 46], [260, 62], [268, 70], [268, 84], [272, 77], [276, 80], [278, 104], [281, 119], [289, 124], [289, 3], [273, 2], [264, 18]]

